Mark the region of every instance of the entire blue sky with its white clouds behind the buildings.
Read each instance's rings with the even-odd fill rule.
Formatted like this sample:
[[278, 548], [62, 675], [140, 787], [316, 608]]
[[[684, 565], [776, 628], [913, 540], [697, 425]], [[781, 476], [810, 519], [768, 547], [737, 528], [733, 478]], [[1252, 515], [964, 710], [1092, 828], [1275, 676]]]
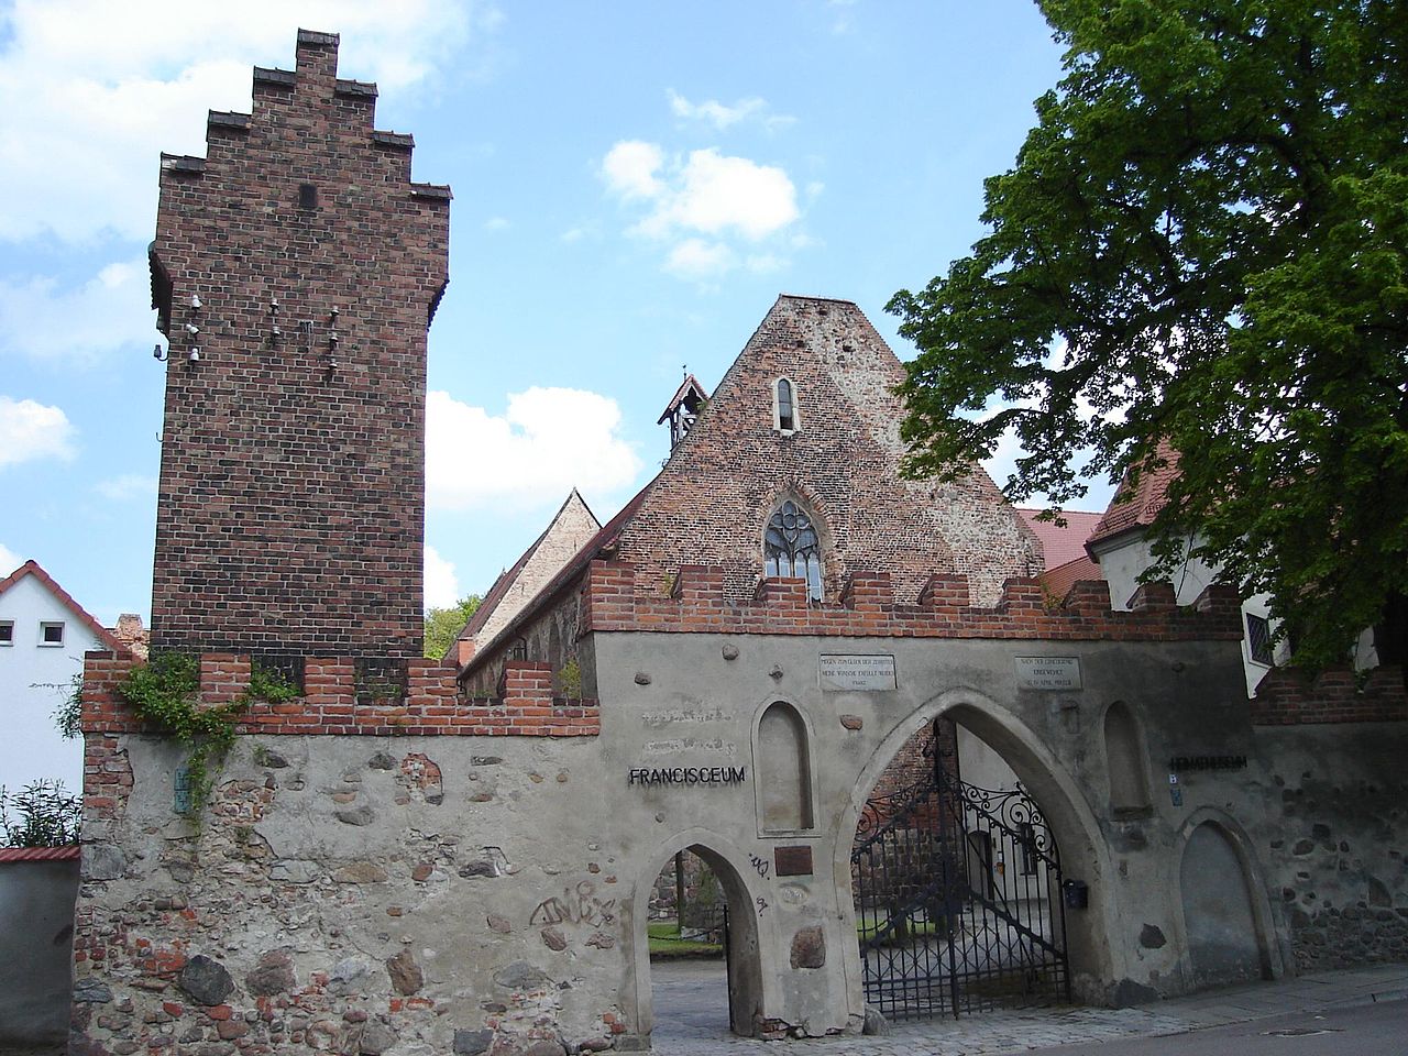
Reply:
[[[482, 593], [573, 486], [601, 520], [781, 293], [884, 304], [981, 234], [1060, 51], [1031, 0], [0, 6], [0, 574], [149, 614], [161, 151], [204, 153], [297, 27], [449, 183], [427, 594]], [[994, 474], [1005, 477], [1000, 452]], [[1088, 508], [1104, 507], [1108, 489]]]

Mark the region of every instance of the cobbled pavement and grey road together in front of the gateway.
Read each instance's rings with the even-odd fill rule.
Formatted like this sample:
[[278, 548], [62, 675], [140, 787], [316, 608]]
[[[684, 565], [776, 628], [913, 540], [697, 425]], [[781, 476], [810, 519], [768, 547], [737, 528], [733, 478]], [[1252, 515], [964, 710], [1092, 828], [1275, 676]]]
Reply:
[[[1276, 1056], [1309, 1056], [1333, 1052], [1336, 1056], [1360, 1056], [1363, 1052], [1370, 1056], [1376, 1053], [1373, 1048], [1360, 1050], [1357, 1039], [1346, 1043], [1345, 1033], [1269, 1032], [1264, 1039], [1270, 1048], [1262, 1050], [1252, 1049], [1242, 1041], [1243, 1035], [1263, 1038], [1259, 1033], [1262, 1029], [1281, 1029], [1264, 1025], [1281, 1017], [1290, 1017], [1286, 1021], [1290, 1025], [1284, 1029], [1304, 1029], [1319, 1022], [1305, 1017], [1338, 1015], [1342, 1010], [1370, 1004], [1381, 1011], [1370, 1014], [1356, 1028], [1366, 1031], [1366, 1043], [1376, 1043], [1373, 1029], [1377, 1028], [1373, 1025], [1378, 1022], [1377, 1017], [1384, 1017], [1390, 1048], [1377, 1053], [1408, 1056], [1408, 964], [1257, 983], [1139, 1008], [1039, 1008], [898, 1024], [884, 1036], [818, 1038], [798, 1042], [796, 1048], [728, 1033], [727, 984], [719, 962], [655, 963], [650, 966], [650, 979], [656, 1010], [653, 1045], [660, 1056], [760, 1056], [763, 1052], [777, 1056], [780, 1048], [805, 1056], [1000, 1056], [1031, 1049], [1046, 1049], [1056, 1056], [1095, 1052], [1095, 1045], [1100, 1046], [1100, 1056], [1124, 1056], [1126, 1050], [1111, 1046], [1138, 1046], [1150, 1043], [1149, 1039], [1171, 1039], [1190, 1032], [1200, 1032], [1202, 1036], [1208, 1031], [1226, 1028], [1232, 1032], [1214, 1036], [1212, 1048], [1198, 1049], [1195, 1043], [1187, 1049], [1129, 1048], [1128, 1055], [1207, 1052], [1221, 1056], [1235, 1052], [1238, 1056], [1260, 1056], [1266, 1052]], [[1245, 1024], [1252, 1026], [1238, 1028]], [[1256, 1026], [1257, 1024], [1263, 1025]], [[1243, 1035], [1235, 1035], [1236, 1029], [1242, 1029]], [[1339, 1039], [1338, 1045], [1335, 1039]], [[1394, 1042], [1397, 1048], [1393, 1048]], [[1332, 1048], [1305, 1048], [1307, 1043], [1329, 1043]]]

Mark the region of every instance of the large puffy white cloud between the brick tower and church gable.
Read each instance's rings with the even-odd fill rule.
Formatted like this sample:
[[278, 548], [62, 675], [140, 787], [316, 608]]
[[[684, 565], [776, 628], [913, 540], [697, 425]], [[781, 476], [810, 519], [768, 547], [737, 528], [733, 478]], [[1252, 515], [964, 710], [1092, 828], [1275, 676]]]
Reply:
[[641, 472], [620, 427], [615, 400], [580, 389], [513, 393], [503, 417], [431, 391], [427, 503], [436, 510], [535, 508], [560, 504], [573, 487], [615, 491]]

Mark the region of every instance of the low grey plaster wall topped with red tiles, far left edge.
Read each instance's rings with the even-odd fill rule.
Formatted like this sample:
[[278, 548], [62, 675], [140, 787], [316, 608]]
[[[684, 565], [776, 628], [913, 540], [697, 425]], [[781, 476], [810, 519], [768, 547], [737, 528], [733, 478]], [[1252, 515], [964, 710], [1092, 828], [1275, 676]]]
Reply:
[[68, 1036], [77, 886], [77, 860], [0, 865], [0, 1050]]

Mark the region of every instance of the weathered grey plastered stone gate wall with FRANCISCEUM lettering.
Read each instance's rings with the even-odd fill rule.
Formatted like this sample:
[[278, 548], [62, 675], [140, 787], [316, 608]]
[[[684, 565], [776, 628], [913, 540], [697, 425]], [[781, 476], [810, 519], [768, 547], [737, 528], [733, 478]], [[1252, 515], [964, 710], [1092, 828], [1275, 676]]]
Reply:
[[[1181, 826], [1200, 805], [1262, 803], [1209, 780], [1117, 821], [1098, 738], [1124, 700], [1156, 755], [1246, 746], [1246, 701], [1221, 689], [1238, 686], [1231, 643], [593, 638], [600, 738], [248, 736], [200, 835], [172, 812], [177, 752], [120, 736], [107, 765], [131, 766], [131, 791], [84, 834], [80, 1031], [190, 1045], [242, 1032], [275, 1050], [629, 1048], [653, 1025], [650, 886], [687, 848], [729, 897], [741, 1026], [857, 1029], [852, 836], [890, 758], [939, 714], [1002, 753], [1067, 876], [1090, 884], [1090, 908], [1067, 917], [1077, 994], [1190, 984], [1186, 950], [1155, 938], [1177, 934]], [[1079, 658], [1083, 689], [1021, 689], [1014, 656], [1033, 650]], [[824, 691], [822, 653], [890, 655], [897, 689]], [[805, 727], [812, 796], [811, 826], [784, 834], [765, 831], [759, 804], [772, 760], [758, 721], [776, 701]], [[677, 767], [743, 776], [639, 776]], [[811, 874], [779, 874], [784, 846], [810, 849]]]

